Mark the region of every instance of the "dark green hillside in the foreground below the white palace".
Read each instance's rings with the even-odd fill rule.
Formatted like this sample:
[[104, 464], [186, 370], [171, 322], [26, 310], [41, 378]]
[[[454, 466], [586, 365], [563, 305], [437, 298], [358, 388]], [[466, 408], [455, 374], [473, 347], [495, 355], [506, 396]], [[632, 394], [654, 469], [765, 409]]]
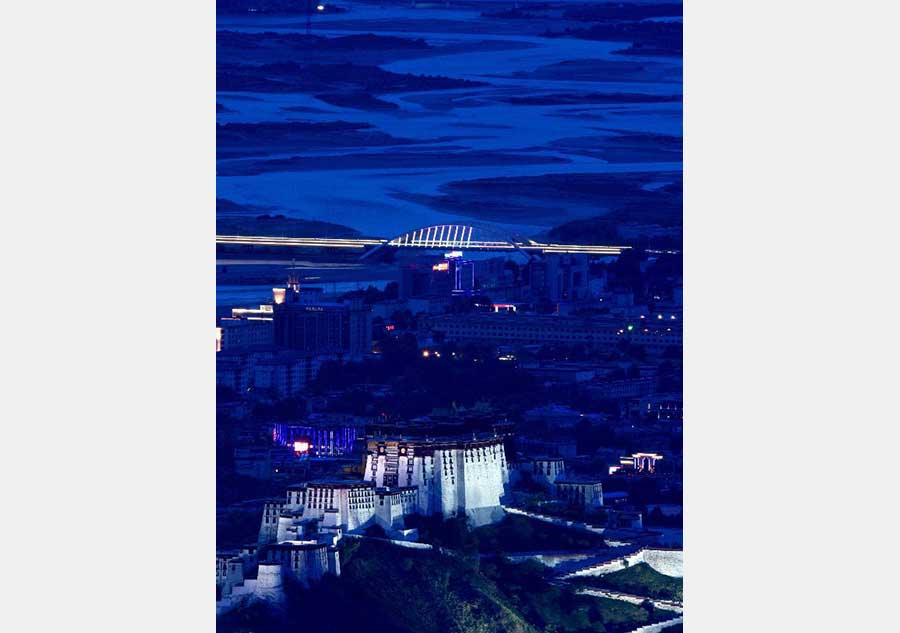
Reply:
[[373, 541], [341, 546], [342, 574], [291, 588], [284, 609], [251, 605], [220, 633], [366, 630], [385, 633], [622, 633], [664, 619], [652, 608], [578, 595], [534, 562], [408, 550]]

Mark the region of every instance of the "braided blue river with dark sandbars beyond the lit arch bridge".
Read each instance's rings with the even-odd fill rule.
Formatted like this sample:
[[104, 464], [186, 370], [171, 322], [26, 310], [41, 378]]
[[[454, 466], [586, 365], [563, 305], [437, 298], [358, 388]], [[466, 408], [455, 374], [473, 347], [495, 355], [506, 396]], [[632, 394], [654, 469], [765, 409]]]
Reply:
[[[346, 5], [344, 5], [346, 6]], [[369, 123], [381, 132], [418, 143], [403, 151], [480, 151], [527, 155], [546, 163], [503, 164], [502, 159], [479, 161], [469, 166], [392, 167], [388, 155], [397, 147], [361, 147], [353, 154], [380, 153], [384, 165], [317, 168], [302, 171], [269, 171], [254, 175], [219, 176], [218, 196], [237, 203], [271, 207], [293, 217], [328, 220], [351, 226], [368, 235], [393, 236], [410, 227], [451, 222], [461, 216], [422, 202], [448, 182], [501, 176], [538, 176], [552, 173], [603, 173], [680, 171], [681, 162], [636, 160], [611, 162], [560, 149], [564, 139], [579, 139], [639, 132], [681, 136], [681, 103], [612, 103], [510, 106], [511, 97], [533, 97], [557, 93], [629, 93], [680, 95], [681, 61], [669, 58], [635, 58], [615, 55], [626, 45], [574, 38], [545, 38], [515, 33], [494, 33], [484, 28], [478, 9], [420, 9], [408, 6], [381, 8], [353, 3], [345, 14], [316, 16], [314, 33], [338, 36], [377, 33], [422, 37], [434, 46], [453, 46], [454, 53], [401, 59], [382, 64], [397, 73], [440, 74], [487, 82], [484, 87], [390, 93], [380, 98], [396, 103], [392, 111], [363, 111], [329, 105], [306, 94], [219, 93], [218, 102], [230, 111], [218, 115], [220, 123], [343, 120]], [[468, 32], [460, 31], [468, 23]], [[321, 25], [321, 27], [319, 27]], [[398, 26], [399, 25], [399, 26]], [[421, 28], [414, 31], [412, 27]], [[305, 32], [302, 18], [259, 15], [223, 17], [220, 29], [260, 32], [278, 30]], [[501, 29], [502, 30], [502, 29]], [[510, 48], [465, 52], [464, 44], [491, 41], [509, 43]], [[515, 47], [512, 47], [514, 45]], [[625, 80], [602, 76], [590, 79], [522, 76], [542, 67], [571, 62], [641, 62], [665, 76], [662, 81]], [[602, 75], [602, 74], [601, 74]], [[249, 99], [248, 99], [249, 98]], [[441, 102], [453, 101], [453, 107]], [[309, 108], [298, 113], [286, 108]], [[442, 137], [442, 138], [438, 138]], [[448, 138], [449, 137], [449, 138]], [[351, 153], [310, 151], [298, 148], [289, 155], [317, 156]], [[565, 162], [550, 162], [563, 160]], [[416, 200], [411, 197], [420, 196]], [[545, 220], [511, 218], [509, 226], [526, 233], [550, 228]]]

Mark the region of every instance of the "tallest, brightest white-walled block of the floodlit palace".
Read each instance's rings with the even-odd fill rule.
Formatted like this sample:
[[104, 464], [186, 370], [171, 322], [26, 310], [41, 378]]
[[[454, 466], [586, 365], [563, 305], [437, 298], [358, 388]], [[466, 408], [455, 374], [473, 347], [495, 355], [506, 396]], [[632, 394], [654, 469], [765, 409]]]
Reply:
[[365, 478], [376, 487], [416, 487], [420, 514], [465, 514], [475, 525], [503, 517], [508, 481], [503, 440], [369, 440]]

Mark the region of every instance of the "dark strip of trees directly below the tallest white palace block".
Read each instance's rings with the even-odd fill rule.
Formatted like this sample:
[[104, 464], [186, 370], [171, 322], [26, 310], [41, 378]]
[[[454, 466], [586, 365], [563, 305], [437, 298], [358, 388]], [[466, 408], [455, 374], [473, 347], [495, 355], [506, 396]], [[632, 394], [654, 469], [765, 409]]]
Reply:
[[469, 529], [466, 520], [407, 517], [407, 525], [419, 529], [419, 538], [449, 549], [481, 553], [534, 552], [604, 548], [599, 534], [572, 530], [543, 521], [508, 514], [502, 521]]

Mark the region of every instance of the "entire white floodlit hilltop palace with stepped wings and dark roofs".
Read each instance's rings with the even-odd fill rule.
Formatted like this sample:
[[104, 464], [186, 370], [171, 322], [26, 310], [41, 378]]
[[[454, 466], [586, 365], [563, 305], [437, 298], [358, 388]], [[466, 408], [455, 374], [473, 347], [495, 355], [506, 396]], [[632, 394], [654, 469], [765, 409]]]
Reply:
[[[390, 538], [415, 540], [410, 514], [465, 515], [475, 526], [500, 521], [509, 483], [503, 439], [367, 441], [362, 478], [318, 480], [287, 488], [263, 509], [256, 547], [217, 555], [220, 611], [254, 597], [278, 601], [283, 582], [308, 585], [340, 575], [337, 541], [380, 526]], [[258, 561], [256, 579], [244, 572]]]

